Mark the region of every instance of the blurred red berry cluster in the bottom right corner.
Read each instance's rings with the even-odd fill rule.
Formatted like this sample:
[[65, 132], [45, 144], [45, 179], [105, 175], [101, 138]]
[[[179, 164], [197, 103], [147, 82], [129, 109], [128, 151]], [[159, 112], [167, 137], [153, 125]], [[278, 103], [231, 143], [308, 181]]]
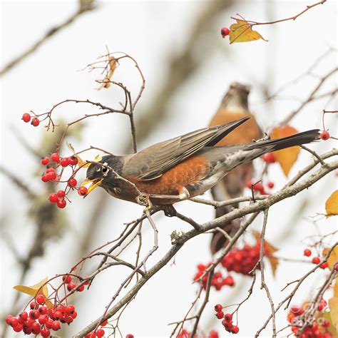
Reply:
[[[314, 314], [315, 317], [307, 319], [304, 318], [303, 307], [292, 307], [287, 314], [287, 320], [292, 325], [291, 330], [295, 334], [295, 337], [333, 338], [332, 334], [327, 332], [329, 321], [322, 317], [322, 312], [326, 306], [327, 302], [322, 299], [317, 306], [317, 312]], [[311, 324], [308, 324], [307, 327], [302, 330], [302, 333], [300, 333], [299, 329], [304, 326], [304, 323]]]

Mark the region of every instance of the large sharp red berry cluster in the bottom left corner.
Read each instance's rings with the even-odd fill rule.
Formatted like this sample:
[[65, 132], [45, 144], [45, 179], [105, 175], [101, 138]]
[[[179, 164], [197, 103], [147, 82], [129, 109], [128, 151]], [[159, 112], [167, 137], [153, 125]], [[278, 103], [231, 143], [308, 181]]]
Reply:
[[34, 302], [31, 302], [30, 311], [23, 311], [19, 317], [6, 316], [6, 323], [15, 332], [24, 334], [41, 334], [42, 337], [50, 337], [51, 330], [58, 331], [61, 324], [71, 324], [78, 315], [74, 305], [59, 304], [57, 307], [46, 307], [45, 297], [38, 295]]

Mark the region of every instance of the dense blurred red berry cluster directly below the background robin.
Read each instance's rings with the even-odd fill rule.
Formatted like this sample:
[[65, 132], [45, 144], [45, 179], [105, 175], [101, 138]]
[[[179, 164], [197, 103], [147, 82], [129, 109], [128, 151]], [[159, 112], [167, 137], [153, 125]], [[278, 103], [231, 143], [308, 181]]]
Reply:
[[[265, 252], [266, 253], [266, 252]], [[249, 272], [260, 260], [260, 241], [255, 245], [245, 244], [242, 249], [232, 249], [222, 259], [222, 266], [227, 271], [235, 271], [242, 275], [249, 275]], [[259, 268], [259, 267], [258, 267]]]

